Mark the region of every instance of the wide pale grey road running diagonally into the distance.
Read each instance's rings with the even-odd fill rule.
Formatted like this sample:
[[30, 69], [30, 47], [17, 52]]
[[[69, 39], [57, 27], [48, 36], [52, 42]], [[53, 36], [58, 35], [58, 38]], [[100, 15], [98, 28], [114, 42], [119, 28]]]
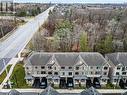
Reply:
[[50, 7], [43, 13], [39, 14], [25, 25], [19, 27], [9, 38], [0, 43], [0, 72], [4, 68], [3, 58], [5, 64], [14, 58], [19, 52], [21, 52], [28, 44], [32, 36], [44, 23], [49, 16], [49, 11], [54, 8]]

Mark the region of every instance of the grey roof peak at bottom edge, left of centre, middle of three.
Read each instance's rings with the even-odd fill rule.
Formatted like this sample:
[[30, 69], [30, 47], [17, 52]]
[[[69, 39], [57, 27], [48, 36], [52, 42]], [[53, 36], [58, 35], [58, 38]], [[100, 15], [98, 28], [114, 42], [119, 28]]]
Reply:
[[60, 95], [55, 89], [51, 86], [48, 86], [40, 95]]

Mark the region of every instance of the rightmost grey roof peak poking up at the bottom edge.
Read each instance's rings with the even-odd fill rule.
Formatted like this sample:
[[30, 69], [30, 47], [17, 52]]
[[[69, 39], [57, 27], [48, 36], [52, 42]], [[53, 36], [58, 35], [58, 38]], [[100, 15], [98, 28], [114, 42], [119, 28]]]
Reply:
[[80, 95], [102, 95], [102, 94], [100, 94], [94, 87], [90, 87], [89, 89], [82, 91]]

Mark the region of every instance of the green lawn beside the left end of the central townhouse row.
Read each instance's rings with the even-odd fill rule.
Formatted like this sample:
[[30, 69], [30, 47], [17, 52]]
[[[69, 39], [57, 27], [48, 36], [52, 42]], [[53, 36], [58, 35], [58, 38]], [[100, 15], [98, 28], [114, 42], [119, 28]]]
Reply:
[[25, 70], [23, 67], [23, 63], [20, 62], [16, 64], [14, 71], [10, 77], [11, 82], [13, 82], [13, 88], [28, 88], [29, 86], [25, 81]]

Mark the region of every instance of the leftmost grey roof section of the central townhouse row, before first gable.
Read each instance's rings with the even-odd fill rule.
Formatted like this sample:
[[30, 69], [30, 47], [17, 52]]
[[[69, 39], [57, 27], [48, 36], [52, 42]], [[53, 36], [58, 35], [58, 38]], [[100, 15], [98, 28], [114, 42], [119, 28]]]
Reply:
[[33, 53], [29, 61], [32, 65], [46, 65], [51, 57], [49, 53]]

